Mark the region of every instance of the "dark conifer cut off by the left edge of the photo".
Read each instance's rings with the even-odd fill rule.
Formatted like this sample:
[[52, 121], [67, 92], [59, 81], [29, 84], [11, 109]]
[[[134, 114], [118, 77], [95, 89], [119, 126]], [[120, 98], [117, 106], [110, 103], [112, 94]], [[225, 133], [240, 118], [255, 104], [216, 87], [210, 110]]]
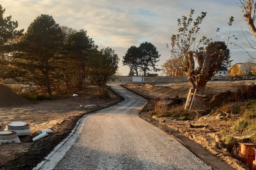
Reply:
[[[10, 71], [13, 69], [10, 64], [10, 48], [6, 45], [13, 44], [13, 40], [23, 35], [22, 30], [18, 28], [18, 22], [12, 21], [12, 16], [3, 17], [5, 8], [0, 5], [0, 78], [8, 78]], [[14, 70], [13, 70], [14, 71]]]

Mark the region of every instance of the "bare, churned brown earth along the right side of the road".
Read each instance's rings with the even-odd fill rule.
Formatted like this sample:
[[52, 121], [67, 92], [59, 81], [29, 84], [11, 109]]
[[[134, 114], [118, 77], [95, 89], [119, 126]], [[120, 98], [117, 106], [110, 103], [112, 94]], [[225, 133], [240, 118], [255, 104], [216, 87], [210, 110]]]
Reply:
[[[210, 81], [205, 88], [205, 95], [211, 96], [226, 90], [235, 90], [241, 83], [251, 84], [255, 81]], [[221, 134], [227, 132], [239, 117], [228, 117], [226, 114], [208, 114], [193, 120], [179, 120], [149, 116], [148, 113], [158, 102], [155, 98], [186, 98], [189, 91], [187, 82], [166, 84], [123, 84], [123, 87], [149, 99], [147, 105], [140, 112], [141, 118], [154, 124], [158, 128], [170, 133], [189, 150], [208, 163], [213, 169], [248, 169], [246, 165], [235, 159], [221, 141]], [[209, 99], [204, 99], [209, 103]], [[212, 99], [210, 99], [212, 100]], [[217, 100], [217, 99], [216, 99]], [[217, 102], [216, 102], [217, 103]], [[225, 121], [223, 121], [223, 118]], [[220, 162], [221, 160], [221, 162]]]

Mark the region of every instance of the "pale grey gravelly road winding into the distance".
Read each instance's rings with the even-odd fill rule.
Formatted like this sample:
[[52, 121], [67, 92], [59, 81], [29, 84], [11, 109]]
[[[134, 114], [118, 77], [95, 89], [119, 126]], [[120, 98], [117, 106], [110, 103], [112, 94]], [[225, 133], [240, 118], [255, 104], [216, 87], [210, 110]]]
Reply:
[[138, 116], [147, 100], [111, 85], [127, 101], [89, 116], [55, 170], [208, 170], [178, 141]]

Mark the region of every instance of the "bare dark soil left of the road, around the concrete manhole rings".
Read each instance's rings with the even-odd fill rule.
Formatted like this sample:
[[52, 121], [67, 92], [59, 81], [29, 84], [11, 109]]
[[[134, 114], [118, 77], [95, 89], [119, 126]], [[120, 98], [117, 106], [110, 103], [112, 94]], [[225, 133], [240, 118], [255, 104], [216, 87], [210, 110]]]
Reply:
[[[97, 86], [89, 85], [86, 93], [97, 91]], [[122, 100], [114, 91], [107, 89], [109, 98], [97, 95], [79, 94], [78, 97], [62, 98], [52, 101], [25, 104], [20, 106], [0, 107], [0, 130], [13, 121], [24, 121], [30, 124], [31, 137], [40, 130], [52, 129], [48, 137], [35, 142], [21, 144], [8, 143], [0, 146], [1, 170], [32, 169], [49, 154], [58, 143], [74, 128], [76, 122], [85, 114], [109, 107]], [[80, 105], [97, 104], [96, 108], [84, 108]]]

